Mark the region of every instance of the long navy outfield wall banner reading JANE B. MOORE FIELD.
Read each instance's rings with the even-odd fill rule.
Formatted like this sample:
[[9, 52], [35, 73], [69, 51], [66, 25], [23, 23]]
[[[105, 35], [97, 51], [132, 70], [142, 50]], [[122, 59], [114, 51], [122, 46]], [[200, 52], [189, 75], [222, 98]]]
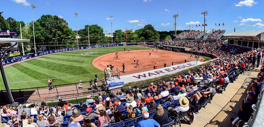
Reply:
[[[28, 55], [23, 55], [19, 57], [14, 57], [10, 59], [3, 60], [2, 63], [3, 65], [8, 65], [11, 63], [15, 63], [21, 60], [26, 60], [34, 57], [39, 57], [42, 55], [48, 55], [48, 54], [53, 54], [53, 53], [60, 53], [60, 52], [65, 52], [65, 51], [74, 51], [74, 50], [80, 50], [80, 49], [93, 49], [93, 48], [105, 48], [105, 47], [114, 47], [114, 46], [127, 46], [127, 45], [136, 45], [135, 43], [129, 43], [129, 44], [107, 44], [107, 45], [93, 45], [93, 46], [82, 46], [82, 47], [74, 47], [74, 48], [64, 48], [64, 49], [55, 49], [55, 50], [48, 50], [48, 51], [42, 51], [42, 52], [37, 52], [33, 54], [28, 54]], [[15, 54], [15, 53], [13, 53]], [[20, 54], [20, 53], [19, 53]], [[11, 54], [10, 54], [11, 55]]]

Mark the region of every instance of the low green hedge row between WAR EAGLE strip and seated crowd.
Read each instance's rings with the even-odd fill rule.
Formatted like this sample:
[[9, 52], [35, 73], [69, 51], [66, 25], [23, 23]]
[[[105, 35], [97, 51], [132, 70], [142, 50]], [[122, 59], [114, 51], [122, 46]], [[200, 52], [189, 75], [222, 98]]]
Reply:
[[174, 76], [178, 76], [178, 75], [181, 75], [183, 76], [186, 72], [190, 71], [190, 70], [195, 70], [195, 69], [198, 69], [202, 66], [205, 66], [205, 65], [210, 65], [210, 63], [204, 63], [204, 64], [201, 64], [201, 65], [197, 65], [195, 67], [191, 67], [191, 68], [188, 68], [188, 69], [185, 69], [185, 70], [182, 70], [180, 72], [176, 72], [176, 73], [173, 73], [173, 74], [166, 74], [164, 76], [160, 76], [160, 77], [156, 77], [156, 78], [151, 78], [151, 79], [146, 79], [146, 80], [142, 80], [142, 81], [137, 81], [137, 82], [130, 82], [130, 83], [126, 83], [122, 86], [123, 90], [126, 91], [126, 89], [128, 89], [129, 86], [133, 87], [133, 86], [138, 86], [138, 88], [142, 89], [142, 88], [147, 88], [151, 82], [154, 83], [154, 85], [156, 85], [157, 83], [162, 83], [162, 81], [164, 80], [170, 80], [170, 78], [173, 78]]

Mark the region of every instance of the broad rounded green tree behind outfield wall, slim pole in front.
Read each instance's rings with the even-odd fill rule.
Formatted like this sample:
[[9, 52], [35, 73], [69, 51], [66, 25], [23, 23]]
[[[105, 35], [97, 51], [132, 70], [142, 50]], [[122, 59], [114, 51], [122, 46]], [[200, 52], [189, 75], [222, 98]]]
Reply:
[[[105, 39], [105, 34], [103, 33], [103, 28], [97, 24], [85, 25], [82, 30], [78, 30], [78, 34], [82, 38], [82, 41], [88, 41], [88, 27], [89, 27], [89, 37], [90, 43], [95, 44], [96, 41], [101, 41]], [[92, 42], [91, 42], [92, 41]]]

